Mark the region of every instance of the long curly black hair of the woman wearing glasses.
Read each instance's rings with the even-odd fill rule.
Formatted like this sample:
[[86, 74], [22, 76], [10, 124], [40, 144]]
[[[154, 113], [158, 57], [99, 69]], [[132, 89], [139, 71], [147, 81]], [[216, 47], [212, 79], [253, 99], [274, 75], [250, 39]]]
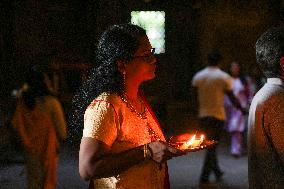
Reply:
[[81, 139], [84, 113], [89, 104], [103, 92], [122, 92], [123, 78], [117, 61], [131, 60], [144, 36], [146, 31], [132, 24], [114, 25], [102, 34], [96, 52], [96, 67], [90, 70], [86, 82], [73, 97], [69, 132], [72, 143]]

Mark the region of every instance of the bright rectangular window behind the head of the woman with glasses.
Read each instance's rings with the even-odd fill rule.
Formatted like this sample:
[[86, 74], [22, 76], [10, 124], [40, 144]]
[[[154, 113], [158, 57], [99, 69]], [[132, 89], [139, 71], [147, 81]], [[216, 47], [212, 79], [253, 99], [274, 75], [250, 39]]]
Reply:
[[146, 30], [156, 54], [165, 53], [164, 11], [132, 11], [131, 23], [141, 26]]

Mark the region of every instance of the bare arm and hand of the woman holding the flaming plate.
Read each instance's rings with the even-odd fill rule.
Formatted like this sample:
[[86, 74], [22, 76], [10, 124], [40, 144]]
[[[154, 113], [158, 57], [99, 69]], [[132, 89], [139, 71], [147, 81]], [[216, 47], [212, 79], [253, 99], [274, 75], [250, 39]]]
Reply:
[[[83, 137], [79, 152], [79, 173], [84, 180], [116, 176], [145, 160], [143, 146], [111, 154], [110, 147], [90, 137]], [[162, 163], [173, 156], [184, 153], [168, 147], [164, 142], [149, 144], [151, 159]]]

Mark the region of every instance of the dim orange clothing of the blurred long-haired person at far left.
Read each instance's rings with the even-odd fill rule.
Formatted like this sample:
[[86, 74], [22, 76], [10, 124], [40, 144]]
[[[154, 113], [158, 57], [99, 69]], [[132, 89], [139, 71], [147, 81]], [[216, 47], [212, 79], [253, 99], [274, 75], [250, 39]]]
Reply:
[[[60, 120], [56, 119], [56, 112], [59, 112]], [[53, 97], [37, 99], [34, 110], [29, 110], [20, 101], [12, 124], [25, 151], [28, 188], [54, 189], [58, 138], [66, 137], [66, 124], [59, 102]]]

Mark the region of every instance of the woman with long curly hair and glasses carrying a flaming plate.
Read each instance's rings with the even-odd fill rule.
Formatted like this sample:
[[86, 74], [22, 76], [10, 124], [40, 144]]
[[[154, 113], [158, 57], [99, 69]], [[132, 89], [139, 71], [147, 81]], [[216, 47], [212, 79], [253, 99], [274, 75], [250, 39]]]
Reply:
[[156, 70], [145, 30], [132, 24], [110, 27], [99, 40], [97, 62], [74, 98], [77, 129], [84, 120], [81, 177], [92, 189], [169, 188], [166, 161], [184, 153], [167, 145], [139, 89]]

